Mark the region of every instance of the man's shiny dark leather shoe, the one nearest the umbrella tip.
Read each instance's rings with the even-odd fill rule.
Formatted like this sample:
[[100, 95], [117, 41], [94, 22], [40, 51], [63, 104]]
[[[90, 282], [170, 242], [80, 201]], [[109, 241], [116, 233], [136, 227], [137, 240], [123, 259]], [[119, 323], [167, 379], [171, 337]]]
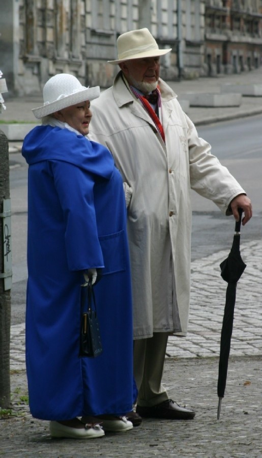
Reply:
[[136, 406], [136, 412], [141, 417], [165, 418], [168, 420], [192, 420], [195, 416], [193, 410], [179, 406], [172, 399], [168, 399], [153, 407]]

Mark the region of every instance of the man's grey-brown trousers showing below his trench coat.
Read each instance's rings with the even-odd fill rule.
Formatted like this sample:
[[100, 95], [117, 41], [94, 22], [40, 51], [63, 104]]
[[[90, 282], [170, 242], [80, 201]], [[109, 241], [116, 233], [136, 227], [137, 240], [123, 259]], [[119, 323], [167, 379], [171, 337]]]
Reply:
[[168, 333], [134, 340], [134, 378], [138, 389], [137, 404], [152, 407], [169, 399], [161, 384]]

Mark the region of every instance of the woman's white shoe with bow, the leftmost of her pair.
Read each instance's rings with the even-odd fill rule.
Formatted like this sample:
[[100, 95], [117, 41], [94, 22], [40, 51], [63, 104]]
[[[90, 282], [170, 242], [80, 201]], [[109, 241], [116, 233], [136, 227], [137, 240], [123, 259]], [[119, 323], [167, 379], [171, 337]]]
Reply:
[[82, 428], [72, 428], [58, 421], [50, 421], [49, 429], [52, 437], [64, 437], [69, 439], [93, 439], [105, 435], [100, 424], [83, 424]]

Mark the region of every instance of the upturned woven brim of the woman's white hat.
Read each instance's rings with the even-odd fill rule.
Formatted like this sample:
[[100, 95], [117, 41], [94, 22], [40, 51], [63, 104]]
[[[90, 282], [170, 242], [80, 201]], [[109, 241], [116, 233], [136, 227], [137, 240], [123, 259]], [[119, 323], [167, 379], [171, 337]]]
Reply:
[[99, 86], [95, 86], [94, 88], [86, 88], [59, 100], [55, 100], [54, 102], [47, 103], [46, 105], [39, 106], [38, 108], [33, 108], [32, 111], [37, 119], [41, 119], [45, 116], [55, 113], [56, 111], [62, 110], [63, 108], [67, 108], [68, 106], [75, 105], [76, 103], [80, 103], [85, 100], [91, 101], [99, 96]]

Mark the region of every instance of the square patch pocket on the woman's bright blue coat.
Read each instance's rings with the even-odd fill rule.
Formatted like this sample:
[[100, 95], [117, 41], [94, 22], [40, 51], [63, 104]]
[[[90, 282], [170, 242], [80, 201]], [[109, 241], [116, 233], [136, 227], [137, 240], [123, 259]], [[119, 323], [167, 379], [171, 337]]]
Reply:
[[103, 275], [126, 270], [124, 231], [99, 237], [103, 252]]

